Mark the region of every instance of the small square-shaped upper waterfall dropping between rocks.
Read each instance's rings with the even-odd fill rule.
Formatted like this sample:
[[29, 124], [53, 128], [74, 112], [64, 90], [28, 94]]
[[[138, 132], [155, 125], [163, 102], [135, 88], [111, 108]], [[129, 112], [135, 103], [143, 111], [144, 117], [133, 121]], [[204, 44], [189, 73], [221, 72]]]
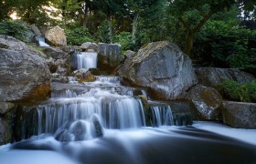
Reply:
[[80, 68], [94, 68], [97, 67], [97, 56], [95, 52], [80, 52], [77, 55], [78, 58], [78, 69]]

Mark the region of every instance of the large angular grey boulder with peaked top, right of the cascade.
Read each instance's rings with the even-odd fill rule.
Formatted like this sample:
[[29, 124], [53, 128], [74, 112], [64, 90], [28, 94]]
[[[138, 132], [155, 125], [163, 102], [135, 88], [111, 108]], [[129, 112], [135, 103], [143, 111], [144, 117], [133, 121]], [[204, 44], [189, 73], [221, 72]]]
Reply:
[[176, 98], [193, 85], [197, 77], [190, 58], [170, 42], [155, 42], [129, 57], [118, 71], [133, 85], [150, 87], [151, 97]]

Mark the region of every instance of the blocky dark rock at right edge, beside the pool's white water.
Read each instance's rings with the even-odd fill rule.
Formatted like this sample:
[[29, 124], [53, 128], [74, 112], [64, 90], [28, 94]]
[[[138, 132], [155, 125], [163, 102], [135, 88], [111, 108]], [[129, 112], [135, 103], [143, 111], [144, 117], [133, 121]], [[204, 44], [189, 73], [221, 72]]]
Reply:
[[226, 101], [223, 122], [233, 128], [256, 128], [256, 103]]

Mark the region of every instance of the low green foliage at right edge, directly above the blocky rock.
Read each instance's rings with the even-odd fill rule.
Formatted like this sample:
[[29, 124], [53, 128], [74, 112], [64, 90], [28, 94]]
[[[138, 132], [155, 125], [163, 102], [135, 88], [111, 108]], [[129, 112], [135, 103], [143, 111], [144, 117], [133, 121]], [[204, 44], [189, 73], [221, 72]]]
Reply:
[[231, 100], [242, 102], [256, 102], [256, 80], [250, 83], [239, 84], [226, 79], [219, 86], [223, 95]]

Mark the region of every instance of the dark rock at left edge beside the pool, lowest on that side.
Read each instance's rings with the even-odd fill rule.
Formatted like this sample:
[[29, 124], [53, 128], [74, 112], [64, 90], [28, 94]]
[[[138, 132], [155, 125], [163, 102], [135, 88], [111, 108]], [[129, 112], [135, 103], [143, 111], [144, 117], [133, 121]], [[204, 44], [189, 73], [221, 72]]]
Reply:
[[10, 143], [12, 139], [12, 128], [3, 118], [0, 118], [0, 145]]

